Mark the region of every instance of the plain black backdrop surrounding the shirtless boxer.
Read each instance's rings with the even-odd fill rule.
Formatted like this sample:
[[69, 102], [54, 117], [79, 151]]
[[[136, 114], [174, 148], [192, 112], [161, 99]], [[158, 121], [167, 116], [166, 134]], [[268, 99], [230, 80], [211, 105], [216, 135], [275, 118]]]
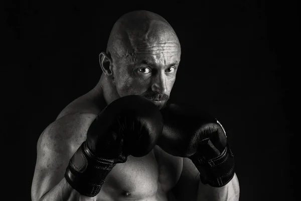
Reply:
[[240, 200], [295, 200], [297, 1], [163, 2], [5, 2], [3, 196], [30, 200], [39, 135], [98, 82], [98, 54], [114, 22], [142, 9], [163, 16], [178, 34], [182, 60], [171, 99], [223, 124]]

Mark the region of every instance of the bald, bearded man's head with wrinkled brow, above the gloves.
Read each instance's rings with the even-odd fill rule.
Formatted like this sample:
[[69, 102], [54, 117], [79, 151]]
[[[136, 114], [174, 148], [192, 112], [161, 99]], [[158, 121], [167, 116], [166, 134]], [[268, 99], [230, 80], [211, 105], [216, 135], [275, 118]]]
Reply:
[[123, 15], [111, 30], [107, 52], [99, 58], [106, 102], [136, 94], [164, 107], [180, 57], [179, 39], [164, 18], [148, 11]]

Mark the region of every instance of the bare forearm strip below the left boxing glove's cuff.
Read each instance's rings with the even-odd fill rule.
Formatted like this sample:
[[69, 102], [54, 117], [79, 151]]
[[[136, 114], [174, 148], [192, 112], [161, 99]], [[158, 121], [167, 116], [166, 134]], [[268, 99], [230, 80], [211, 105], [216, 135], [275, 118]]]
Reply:
[[56, 186], [44, 194], [39, 201], [96, 201], [95, 197], [88, 197], [73, 189], [63, 178]]

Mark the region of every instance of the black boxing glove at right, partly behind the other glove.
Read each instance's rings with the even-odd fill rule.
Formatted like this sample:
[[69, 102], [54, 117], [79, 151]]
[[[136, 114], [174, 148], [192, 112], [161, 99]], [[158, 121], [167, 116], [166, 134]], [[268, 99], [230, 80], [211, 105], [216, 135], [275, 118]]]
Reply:
[[163, 135], [158, 143], [168, 153], [188, 157], [202, 183], [226, 185], [234, 176], [234, 155], [222, 125], [210, 115], [190, 107], [169, 105], [161, 110]]

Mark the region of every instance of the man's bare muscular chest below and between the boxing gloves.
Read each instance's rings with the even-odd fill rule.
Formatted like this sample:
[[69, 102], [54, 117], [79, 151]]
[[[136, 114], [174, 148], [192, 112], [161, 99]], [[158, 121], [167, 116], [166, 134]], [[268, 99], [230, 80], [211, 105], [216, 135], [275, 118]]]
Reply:
[[164, 198], [179, 180], [182, 167], [182, 158], [157, 146], [144, 157], [129, 156], [107, 175], [97, 200], [167, 200]]

